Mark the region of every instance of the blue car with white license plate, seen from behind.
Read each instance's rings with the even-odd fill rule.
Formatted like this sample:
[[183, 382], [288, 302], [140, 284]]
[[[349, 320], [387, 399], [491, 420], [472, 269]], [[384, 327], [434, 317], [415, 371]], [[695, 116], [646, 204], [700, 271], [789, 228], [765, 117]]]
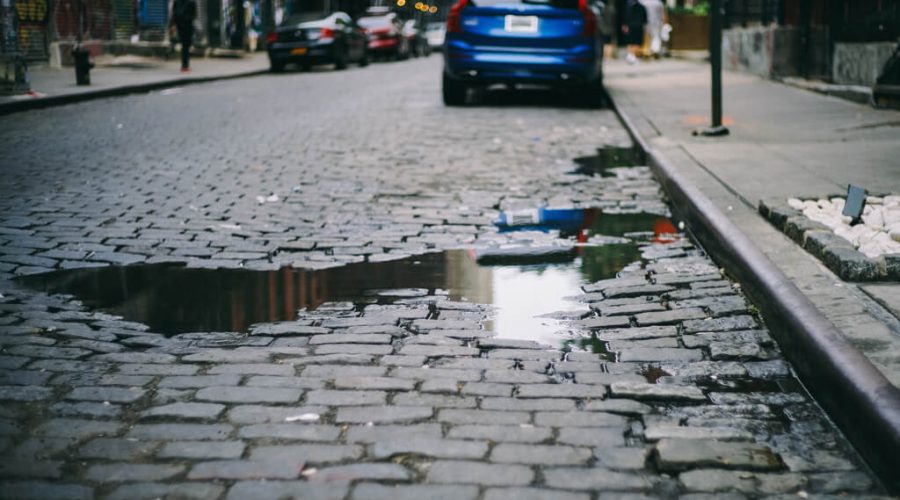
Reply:
[[447, 17], [444, 104], [492, 84], [574, 88], [599, 104], [602, 10], [597, 0], [459, 0]]

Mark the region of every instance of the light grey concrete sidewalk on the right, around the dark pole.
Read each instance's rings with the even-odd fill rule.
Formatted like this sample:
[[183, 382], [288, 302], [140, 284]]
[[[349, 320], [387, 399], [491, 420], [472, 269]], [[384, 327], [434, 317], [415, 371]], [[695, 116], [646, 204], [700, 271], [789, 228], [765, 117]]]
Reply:
[[[742, 233], [735, 235], [753, 242], [824, 316], [827, 321], [821, 323], [825, 329], [831, 328], [828, 322], [833, 324], [839, 336], [868, 358], [884, 376], [881, 380], [890, 381], [894, 390], [888, 384], [887, 388], [882, 387], [888, 394], [865, 394], [864, 388], [823, 384], [831, 374], [823, 376], [815, 367], [810, 368], [819, 361], [817, 357], [828, 358], [831, 369], [844, 375], [860, 367], [835, 366], [834, 358], [829, 358], [833, 353], [827, 349], [822, 354], [818, 346], [797, 345], [802, 341], [796, 340], [798, 335], [792, 330], [796, 324], [770, 325], [773, 329], [780, 326], [786, 332], [780, 339], [782, 344], [795, 344], [786, 351], [795, 350], [792, 361], [798, 371], [807, 371], [803, 374], [806, 383], [819, 384], [820, 392], [833, 390], [830, 398], [834, 405], [843, 406], [841, 410], [847, 414], [856, 408], [852, 401], [841, 399], [844, 389], [855, 390], [870, 401], [881, 398], [882, 405], [887, 400], [895, 403], [895, 389], [900, 386], [900, 308], [897, 305], [900, 283], [842, 281], [765, 220], [758, 207], [762, 200], [840, 195], [846, 193], [851, 183], [874, 193], [900, 193], [900, 135], [896, 129], [900, 113], [876, 110], [752, 75], [725, 73], [724, 122], [731, 135], [695, 137], [692, 131], [709, 125], [707, 64], [664, 60], [631, 66], [624, 61], [610, 61], [606, 70], [612, 100], [651, 157], [667, 164], [689, 189], [699, 190], [709, 198], [710, 211], [717, 208], [724, 214], [723, 220], [730, 221], [732, 228]], [[673, 202], [678, 205], [678, 200]], [[696, 206], [694, 209], [696, 213]], [[701, 226], [691, 229], [708, 230]], [[724, 240], [719, 233], [704, 243], [713, 248], [731, 243]], [[741, 249], [735, 251], [739, 253]], [[721, 258], [717, 252], [711, 253]], [[777, 276], [773, 282], [777, 282]], [[747, 288], [749, 285], [745, 283]], [[790, 288], [789, 284], [785, 285], [780, 288]], [[791, 305], [779, 307], [789, 309]], [[791, 312], [786, 314], [790, 316]], [[815, 318], [805, 322], [816, 323]], [[853, 364], [866, 364], [860, 361]], [[875, 375], [874, 378], [879, 378]], [[849, 379], [852, 376], [842, 380]], [[817, 396], [822, 398], [821, 393]], [[882, 407], [885, 410], [882, 416], [896, 423], [900, 420], [900, 410], [892, 404]]]

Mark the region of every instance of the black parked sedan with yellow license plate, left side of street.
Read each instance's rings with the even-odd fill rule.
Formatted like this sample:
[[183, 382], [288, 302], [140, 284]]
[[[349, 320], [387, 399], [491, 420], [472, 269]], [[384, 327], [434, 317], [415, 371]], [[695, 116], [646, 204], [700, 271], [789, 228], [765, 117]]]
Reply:
[[366, 34], [344, 12], [302, 13], [288, 17], [266, 37], [272, 71], [297, 63], [308, 70], [314, 64], [344, 69], [356, 62], [369, 64]]

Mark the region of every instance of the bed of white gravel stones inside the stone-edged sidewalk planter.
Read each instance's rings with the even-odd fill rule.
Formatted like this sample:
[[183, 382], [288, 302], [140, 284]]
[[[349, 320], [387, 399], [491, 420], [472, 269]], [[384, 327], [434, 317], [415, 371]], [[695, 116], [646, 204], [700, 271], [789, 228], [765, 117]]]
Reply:
[[792, 208], [828, 226], [866, 257], [900, 254], [900, 196], [869, 196], [863, 209], [862, 223], [855, 226], [850, 225], [849, 217], [841, 215], [844, 203], [843, 198], [788, 200]]

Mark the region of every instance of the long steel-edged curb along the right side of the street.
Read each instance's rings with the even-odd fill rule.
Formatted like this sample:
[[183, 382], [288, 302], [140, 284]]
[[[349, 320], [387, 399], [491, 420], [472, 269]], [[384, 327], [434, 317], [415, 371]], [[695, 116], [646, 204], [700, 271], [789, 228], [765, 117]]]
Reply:
[[900, 390], [610, 102], [646, 153], [675, 212], [710, 255], [741, 282], [806, 387], [887, 489], [900, 493]]

